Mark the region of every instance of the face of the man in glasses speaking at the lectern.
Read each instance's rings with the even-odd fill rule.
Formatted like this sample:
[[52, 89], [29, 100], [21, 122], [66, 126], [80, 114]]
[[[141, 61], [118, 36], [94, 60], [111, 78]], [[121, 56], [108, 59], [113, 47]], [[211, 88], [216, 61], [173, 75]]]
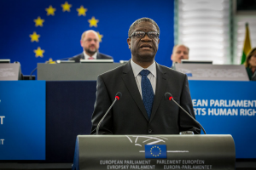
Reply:
[[[156, 31], [156, 26], [150, 22], [141, 22], [135, 26], [135, 31]], [[160, 42], [159, 37], [149, 38], [146, 34], [144, 37], [131, 37], [127, 39], [128, 46], [131, 49], [132, 59], [136, 59], [139, 62], [148, 62], [154, 59], [154, 56], [158, 50], [158, 44]]]

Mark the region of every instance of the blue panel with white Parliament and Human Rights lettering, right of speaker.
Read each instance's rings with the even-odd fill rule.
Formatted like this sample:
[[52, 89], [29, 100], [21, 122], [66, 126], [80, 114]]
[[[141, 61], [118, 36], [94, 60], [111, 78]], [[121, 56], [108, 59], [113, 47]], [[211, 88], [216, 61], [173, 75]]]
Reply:
[[256, 158], [255, 87], [256, 82], [189, 81], [196, 120], [207, 134], [231, 134], [236, 158]]

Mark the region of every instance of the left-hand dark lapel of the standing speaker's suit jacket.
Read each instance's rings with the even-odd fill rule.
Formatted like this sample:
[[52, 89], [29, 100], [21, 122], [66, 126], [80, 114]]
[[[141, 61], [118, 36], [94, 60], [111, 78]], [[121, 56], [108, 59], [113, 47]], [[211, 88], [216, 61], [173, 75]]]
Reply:
[[135, 77], [131, 69], [131, 61], [129, 61], [126, 65], [124, 65], [122, 78], [123, 78], [123, 81], [125, 82], [126, 88], [131, 94], [132, 99], [134, 99], [138, 108], [143, 112], [143, 116], [145, 116], [145, 118], [148, 120], [147, 111], [144, 107], [142, 96], [138, 91], [137, 83], [135, 81]]

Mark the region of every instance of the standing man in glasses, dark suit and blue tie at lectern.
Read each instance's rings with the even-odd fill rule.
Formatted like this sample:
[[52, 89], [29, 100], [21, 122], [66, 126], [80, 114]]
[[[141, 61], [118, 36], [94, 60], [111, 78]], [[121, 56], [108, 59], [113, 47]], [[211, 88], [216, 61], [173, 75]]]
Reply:
[[154, 20], [136, 20], [128, 33], [130, 61], [97, 78], [96, 103], [91, 133], [122, 93], [99, 128], [102, 134], [178, 134], [200, 133], [200, 127], [177, 105], [165, 99], [166, 92], [195, 117], [187, 76], [154, 61], [160, 29]]

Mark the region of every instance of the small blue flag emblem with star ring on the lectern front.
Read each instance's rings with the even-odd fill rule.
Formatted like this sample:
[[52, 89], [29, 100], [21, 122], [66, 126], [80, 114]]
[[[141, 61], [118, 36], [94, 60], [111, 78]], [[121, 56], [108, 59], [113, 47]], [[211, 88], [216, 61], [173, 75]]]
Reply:
[[145, 158], [167, 158], [166, 144], [145, 145]]

